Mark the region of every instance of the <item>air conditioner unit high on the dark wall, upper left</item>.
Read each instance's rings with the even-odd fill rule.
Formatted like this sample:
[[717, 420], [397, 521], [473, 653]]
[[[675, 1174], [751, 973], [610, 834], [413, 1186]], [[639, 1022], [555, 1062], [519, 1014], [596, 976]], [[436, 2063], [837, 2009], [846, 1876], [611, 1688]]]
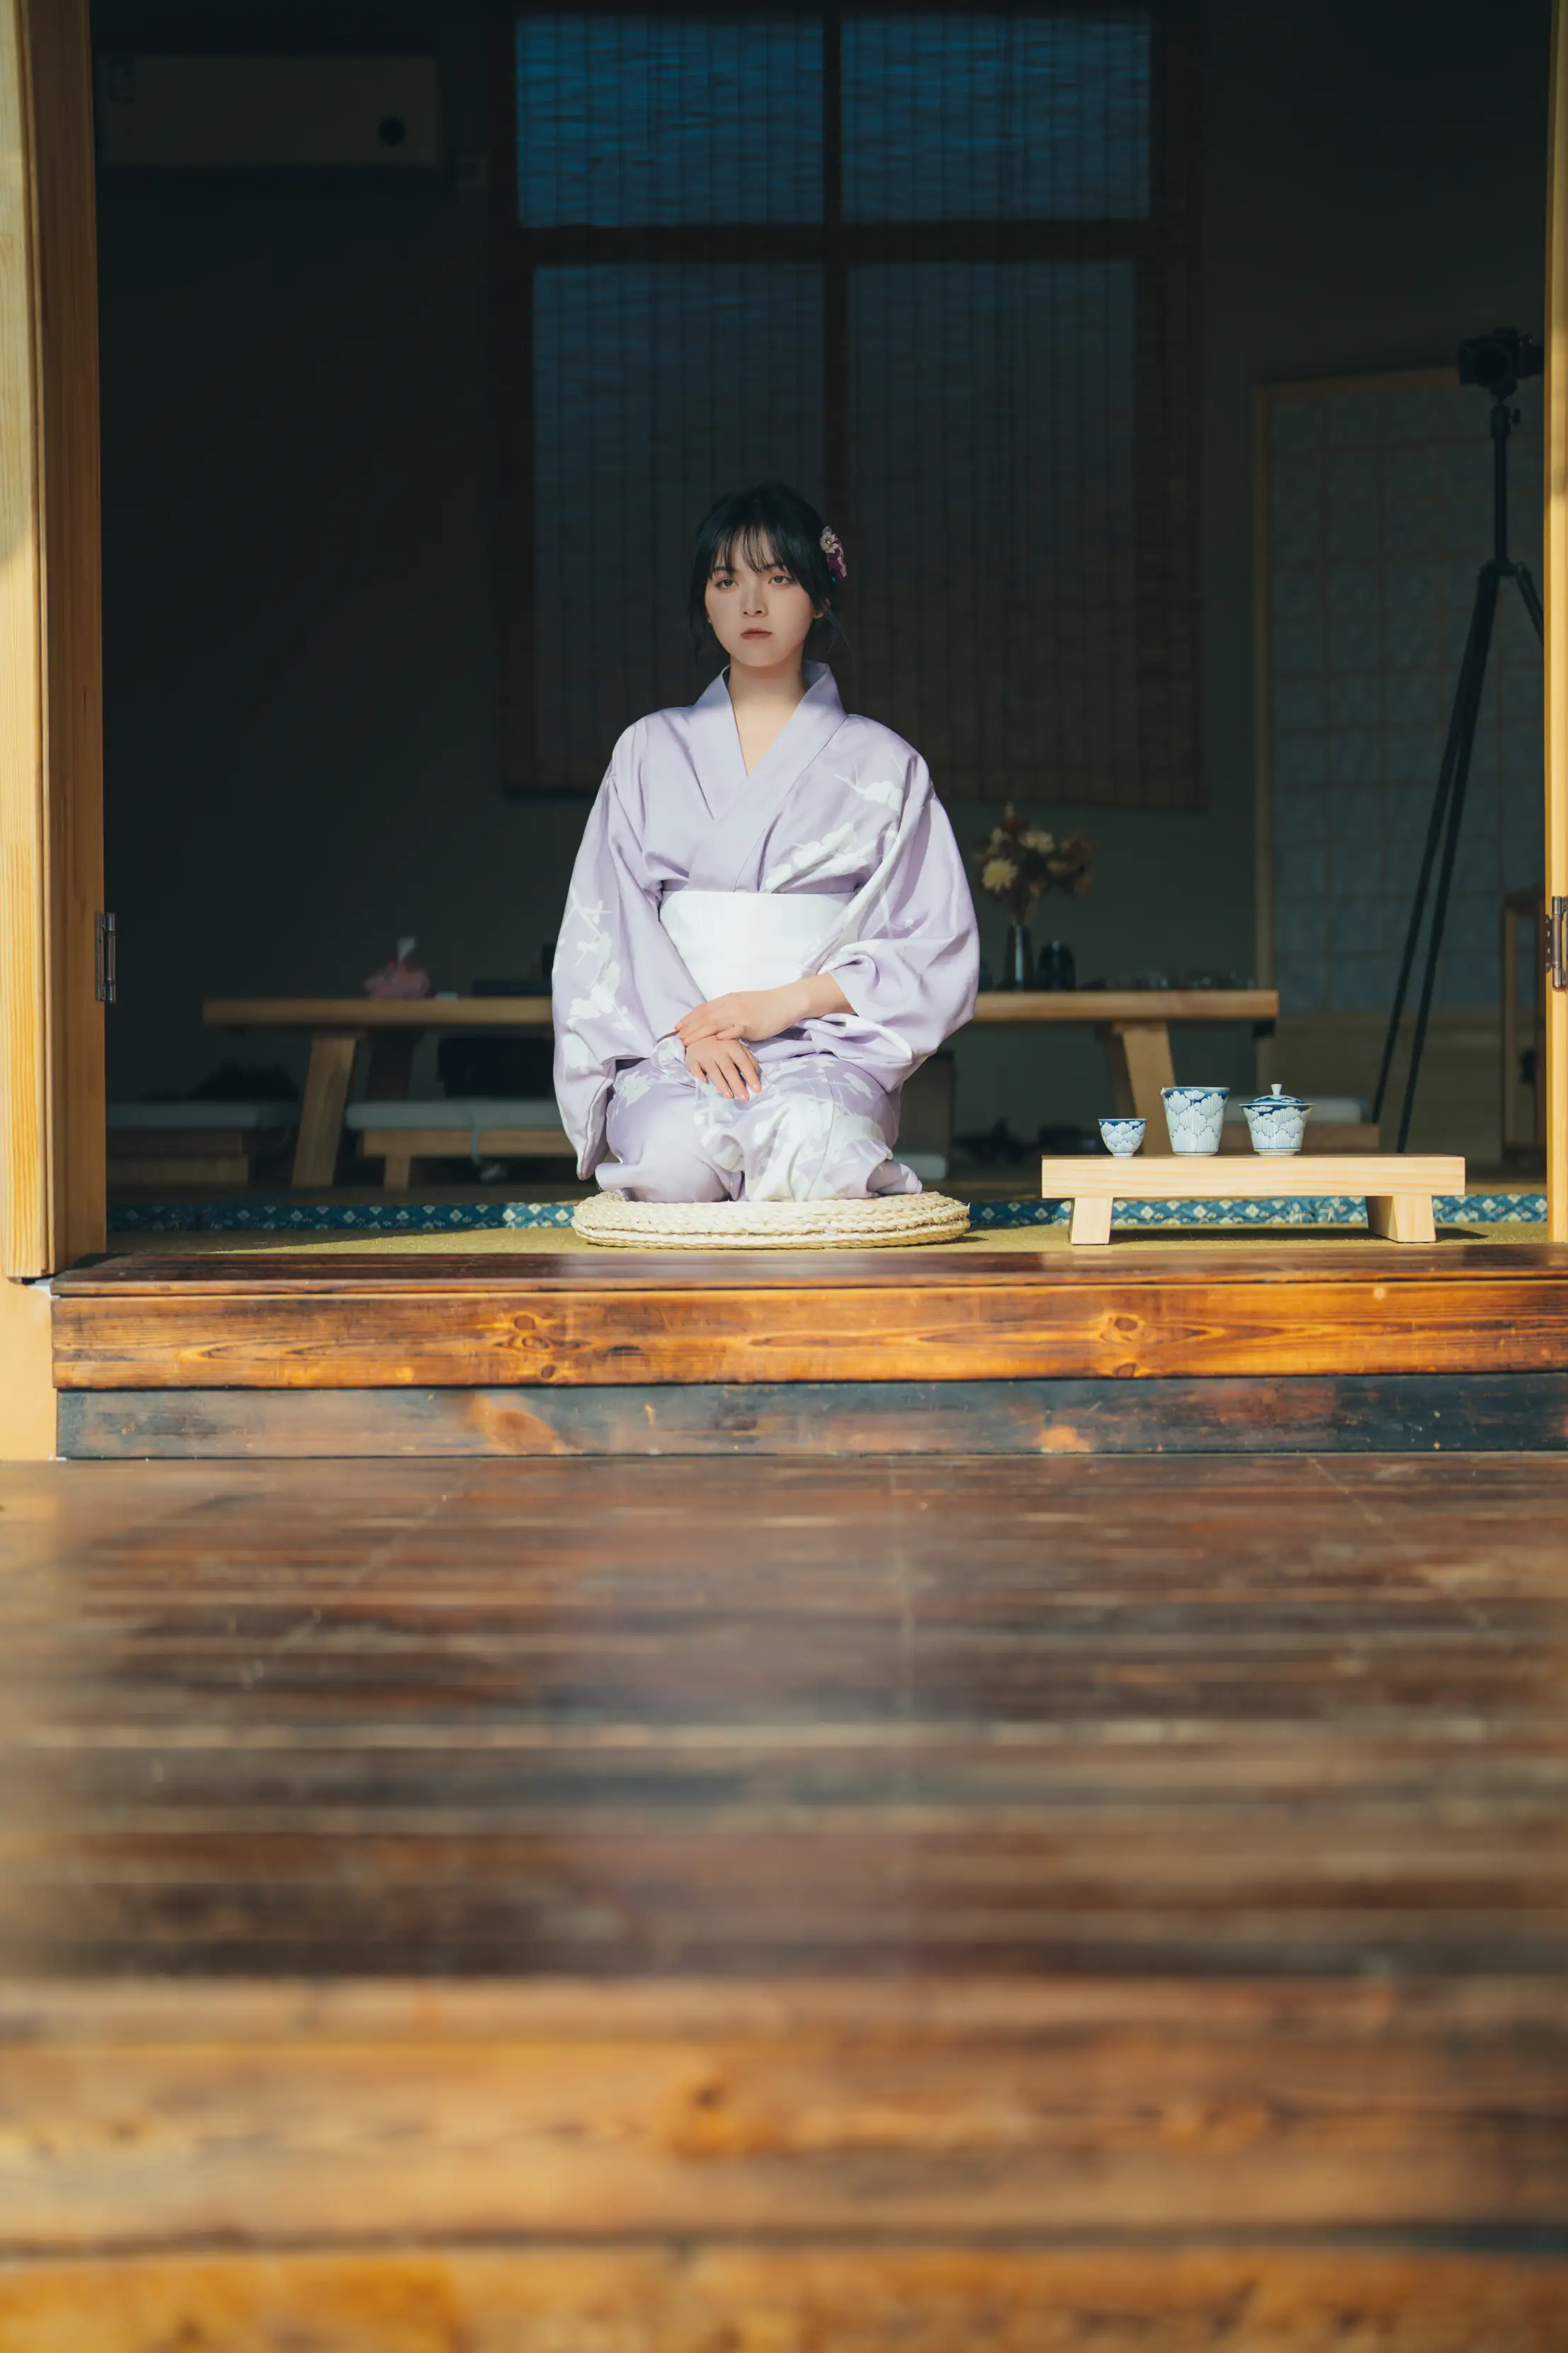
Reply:
[[440, 169], [433, 56], [103, 56], [99, 162], [141, 172]]

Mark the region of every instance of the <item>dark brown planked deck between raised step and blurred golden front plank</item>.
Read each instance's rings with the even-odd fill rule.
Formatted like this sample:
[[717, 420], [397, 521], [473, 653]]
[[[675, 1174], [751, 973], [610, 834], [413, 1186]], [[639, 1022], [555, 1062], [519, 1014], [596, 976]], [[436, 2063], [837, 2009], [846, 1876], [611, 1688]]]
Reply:
[[1568, 1962], [1561, 1459], [2, 1492], [9, 1974]]

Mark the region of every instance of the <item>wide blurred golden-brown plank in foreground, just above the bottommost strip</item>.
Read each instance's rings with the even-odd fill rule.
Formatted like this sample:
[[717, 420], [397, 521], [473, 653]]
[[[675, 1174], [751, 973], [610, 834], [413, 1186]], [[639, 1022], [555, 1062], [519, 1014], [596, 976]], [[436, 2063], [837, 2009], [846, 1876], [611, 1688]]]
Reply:
[[1309, 2021], [1276, 2007], [1206, 2026], [1201, 2000], [1154, 2000], [1119, 2028], [1065, 2014], [1056, 2033], [947, 2038], [863, 1998], [837, 2033], [21, 2045], [0, 2092], [0, 2247], [1060, 2242], [1462, 2217], [1519, 2247], [1561, 2219], [1561, 2005], [1549, 2026], [1521, 2005], [1509, 2033], [1453, 2017], [1422, 2033], [1392, 2000], [1359, 2035], [1335, 2035], [1333, 2002]]

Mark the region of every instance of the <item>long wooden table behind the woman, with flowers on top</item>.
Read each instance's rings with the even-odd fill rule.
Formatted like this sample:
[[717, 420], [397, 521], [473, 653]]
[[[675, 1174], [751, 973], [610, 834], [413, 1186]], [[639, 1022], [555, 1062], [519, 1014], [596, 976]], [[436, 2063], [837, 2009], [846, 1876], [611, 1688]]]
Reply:
[[[976, 1021], [1072, 1021], [1098, 1033], [1110, 1064], [1112, 1108], [1147, 1120], [1145, 1153], [1168, 1153], [1159, 1089], [1175, 1085], [1173, 1021], [1274, 1021], [1272, 988], [994, 988]], [[310, 1068], [294, 1148], [294, 1184], [329, 1186], [336, 1174], [355, 1054], [371, 1045], [369, 1085], [378, 1101], [409, 1092], [421, 1031], [550, 1028], [550, 998], [209, 998], [212, 1028], [306, 1028]]]

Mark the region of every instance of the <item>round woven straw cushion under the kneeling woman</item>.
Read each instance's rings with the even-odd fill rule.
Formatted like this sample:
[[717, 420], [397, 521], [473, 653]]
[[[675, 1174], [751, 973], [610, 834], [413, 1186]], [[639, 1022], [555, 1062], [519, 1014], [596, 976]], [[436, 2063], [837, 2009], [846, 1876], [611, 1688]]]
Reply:
[[945, 1193], [877, 1200], [628, 1200], [599, 1193], [571, 1214], [585, 1242], [614, 1249], [912, 1249], [957, 1242], [969, 1209]]

